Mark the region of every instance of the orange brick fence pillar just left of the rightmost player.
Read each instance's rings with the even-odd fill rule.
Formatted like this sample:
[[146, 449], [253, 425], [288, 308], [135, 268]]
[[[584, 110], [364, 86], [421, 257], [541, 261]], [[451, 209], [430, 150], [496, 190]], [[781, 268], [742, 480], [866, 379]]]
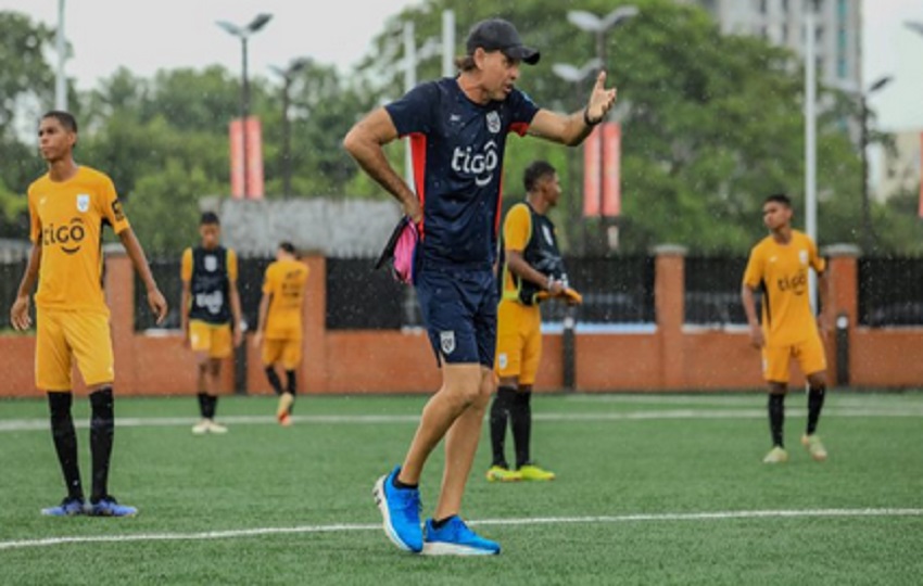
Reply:
[[661, 244], [654, 249], [654, 304], [657, 311], [657, 335], [660, 340], [660, 385], [681, 388], [685, 383], [683, 322], [685, 321], [686, 249]]

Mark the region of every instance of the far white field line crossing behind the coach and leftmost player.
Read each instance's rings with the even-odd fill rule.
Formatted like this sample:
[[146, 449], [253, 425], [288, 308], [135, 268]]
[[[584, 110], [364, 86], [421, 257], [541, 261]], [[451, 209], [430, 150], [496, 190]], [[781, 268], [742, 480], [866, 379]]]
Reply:
[[[788, 409], [792, 417], [804, 417], [804, 409]], [[675, 419], [763, 419], [766, 409], [662, 409], [650, 411], [628, 411], [611, 413], [534, 413], [538, 421], [649, 421]], [[895, 406], [888, 409], [863, 409], [850, 407], [830, 407], [824, 410], [824, 417], [919, 417], [923, 418], [923, 407], [907, 408]], [[344, 415], [344, 416], [293, 416], [295, 423], [315, 424], [382, 424], [382, 423], [417, 423], [418, 415]], [[198, 421], [193, 417], [117, 417], [119, 428], [170, 428], [192, 425]], [[267, 425], [276, 424], [273, 416], [227, 416], [220, 418], [222, 423], [232, 425]], [[75, 426], [86, 429], [86, 421], [75, 421]], [[47, 419], [3, 419], [0, 420], [0, 433], [20, 431], [48, 430]]]

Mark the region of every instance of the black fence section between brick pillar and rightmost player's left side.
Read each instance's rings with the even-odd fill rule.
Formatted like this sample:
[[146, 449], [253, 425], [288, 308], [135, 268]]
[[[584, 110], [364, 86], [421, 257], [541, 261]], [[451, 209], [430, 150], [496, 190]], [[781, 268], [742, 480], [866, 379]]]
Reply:
[[741, 282], [746, 267], [745, 257], [686, 257], [685, 323], [710, 327], [746, 324], [747, 316], [741, 303]]

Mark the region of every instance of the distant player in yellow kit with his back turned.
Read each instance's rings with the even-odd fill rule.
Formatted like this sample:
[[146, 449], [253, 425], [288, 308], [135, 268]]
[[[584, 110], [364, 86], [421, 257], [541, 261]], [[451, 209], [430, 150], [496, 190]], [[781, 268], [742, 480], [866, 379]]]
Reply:
[[[282, 425], [291, 424], [298, 384], [295, 369], [301, 365], [304, 285], [308, 269], [295, 255], [290, 242], [282, 242], [276, 251], [276, 262], [266, 267], [263, 297], [260, 300], [260, 321], [253, 345], [263, 346], [263, 368], [276, 395], [279, 407], [276, 417]], [[286, 371], [286, 388], [276, 372], [276, 365]]]

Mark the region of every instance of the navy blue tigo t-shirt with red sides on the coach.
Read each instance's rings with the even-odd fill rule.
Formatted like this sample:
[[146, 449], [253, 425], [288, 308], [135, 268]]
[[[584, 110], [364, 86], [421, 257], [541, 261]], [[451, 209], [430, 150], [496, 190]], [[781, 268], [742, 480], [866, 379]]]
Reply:
[[423, 211], [423, 265], [490, 268], [500, 228], [507, 133], [526, 133], [539, 107], [514, 89], [477, 104], [455, 78], [421, 84], [384, 106], [410, 137], [414, 183]]

